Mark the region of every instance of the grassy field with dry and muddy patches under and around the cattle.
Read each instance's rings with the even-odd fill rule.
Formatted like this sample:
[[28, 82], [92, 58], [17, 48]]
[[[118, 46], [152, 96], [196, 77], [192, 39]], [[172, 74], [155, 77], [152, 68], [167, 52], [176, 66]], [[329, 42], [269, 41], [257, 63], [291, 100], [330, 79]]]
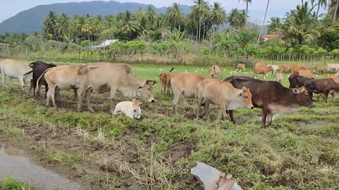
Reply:
[[[160, 69], [167, 72], [172, 65], [132, 68], [159, 82]], [[197, 67], [174, 65], [173, 72], [186, 69]], [[231, 70], [222, 68], [219, 78]], [[248, 70], [233, 75], [252, 76]], [[208, 67], [197, 73], [207, 75]], [[288, 86], [287, 74], [283, 84]], [[331, 98], [263, 128], [258, 108], [237, 110], [235, 125], [215, 120], [218, 106], [212, 107], [212, 122], [194, 120], [194, 99], [182, 99], [174, 116], [172, 98], [160, 93], [160, 84], [154, 87], [157, 101], [143, 101], [141, 120], [109, 114], [109, 94], [93, 94], [96, 113], [85, 106], [77, 113], [73, 91], [61, 91], [58, 110], [19, 91], [17, 80], [13, 90], [1, 86], [0, 143], [23, 148], [35, 162], [89, 189], [202, 189], [190, 175], [196, 161], [231, 174], [244, 189], [339, 189], [339, 103]], [[116, 103], [126, 100], [119, 94]], [[312, 157], [319, 162], [311, 164]]]

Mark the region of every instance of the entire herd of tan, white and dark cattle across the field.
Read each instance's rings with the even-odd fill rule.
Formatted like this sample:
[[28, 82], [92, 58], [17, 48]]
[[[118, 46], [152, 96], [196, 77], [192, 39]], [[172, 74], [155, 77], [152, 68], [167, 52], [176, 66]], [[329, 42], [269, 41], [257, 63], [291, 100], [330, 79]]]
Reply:
[[[82, 110], [83, 97], [88, 110], [94, 112], [90, 105], [90, 94], [109, 92], [111, 111], [114, 114], [123, 113], [129, 118], [141, 117], [141, 102], [136, 99], [145, 99], [148, 103], [155, 102], [153, 97], [153, 85], [155, 80], [141, 80], [133, 74], [128, 64], [113, 63], [87, 63], [82, 65], [57, 66], [52, 63], [35, 61], [27, 65], [21, 61], [5, 59], [0, 63], [2, 82], [6, 85], [6, 76], [18, 78], [24, 90], [25, 82], [30, 81], [30, 91], [33, 89], [35, 98], [40, 96], [41, 85], [45, 86], [46, 106], [52, 99], [54, 107], [57, 107], [55, 99], [59, 96], [59, 90], [73, 89], [78, 100], [78, 111]], [[173, 70], [174, 68], [172, 68]], [[336, 64], [326, 64], [325, 70], [338, 72]], [[217, 80], [220, 73], [218, 65], [213, 65], [209, 70], [209, 77], [203, 77], [191, 72], [172, 73], [172, 70], [159, 75], [161, 92], [173, 96], [173, 110], [178, 114], [178, 103], [181, 96], [188, 99], [196, 99], [196, 119], [206, 115], [210, 120], [210, 104], [220, 106], [219, 118], [225, 120], [227, 113], [234, 122], [234, 110], [237, 108], [261, 108], [262, 123], [265, 126], [273, 121], [276, 113], [290, 113], [304, 106], [314, 107], [313, 94], [322, 94], [327, 101], [328, 94], [338, 94], [339, 77], [326, 77], [314, 79], [309, 68], [299, 66], [266, 65], [258, 62], [254, 65], [254, 78], [244, 76], [231, 76], [225, 80]], [[237, 72], [246, 71], [244, 64], [237, 65]], [[276, 80], [265, 81], [256, 79], [256, 75], [262, 74], [264, 79], [269, 72], [276, 72]], [[288, 77], [290, 88], [283, 87], [283, 72], [291, 72]], [[322, 73], [322, 68], [314, 68], [314, 72]], [[309, 75], [312, 74], [312, 75]], [[37, 88], [35, 90], [35, 88]], [[114, 97], [119, 91], [133, 101], [117, 103], [114, 108]], [[203, 110], [201, 110], [203, 106]]]

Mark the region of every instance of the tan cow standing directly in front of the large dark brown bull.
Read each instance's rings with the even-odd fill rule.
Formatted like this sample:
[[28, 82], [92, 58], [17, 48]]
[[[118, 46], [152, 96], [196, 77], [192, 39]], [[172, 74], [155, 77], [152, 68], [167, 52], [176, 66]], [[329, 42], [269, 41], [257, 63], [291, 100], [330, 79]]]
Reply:
[[[228, 82], [220, 80], [205, 79], [198, 84], [196, 89], [196, 98], [198, 99], [198, 107], [196, 119], [198, 120], [203, 101], [205, 102], [204, 114], [207, 120], [210, 120], [210, 103], [220, 106], [219, 118], [226, 119], [226, 110], [236, 110], [237, 108], [254, 108], [252, 104], [252, 94], [249, 89], [243, 87], [236, 89]], [[202, 116], [203, 116], [202, 115]]]

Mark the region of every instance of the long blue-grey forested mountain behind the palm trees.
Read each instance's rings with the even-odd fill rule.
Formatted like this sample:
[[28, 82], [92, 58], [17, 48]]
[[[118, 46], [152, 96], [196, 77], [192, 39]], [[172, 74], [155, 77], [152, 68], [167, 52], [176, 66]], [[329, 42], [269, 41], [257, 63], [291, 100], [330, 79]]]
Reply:
[[[64, 3], [64, 4], [49, 4], [35, 6], [26, 11], [21, 11], [17, 15], [4, 20], [0, 23], [0, 34], [5, 32], [9, 33], [32, 33], [34, 31], [40, 31], [42, 22], [46, 17], [48, 11], [55, 11], [58, 15], [66, 13], [69, 16], [75, 14], [85, 15], [116, 15], [121, 11], [129, 10], [131, 12], [137, 11], [138, 7], [145, 10], [148, 5], [138, 3], [119, 3], [117, 1], [89, 1], [80, 3]], [[190, 12], [190, 7], [181, 5], [184, 13]], [[165, 13], [167, 7], [156, 8], [158, 13]]]

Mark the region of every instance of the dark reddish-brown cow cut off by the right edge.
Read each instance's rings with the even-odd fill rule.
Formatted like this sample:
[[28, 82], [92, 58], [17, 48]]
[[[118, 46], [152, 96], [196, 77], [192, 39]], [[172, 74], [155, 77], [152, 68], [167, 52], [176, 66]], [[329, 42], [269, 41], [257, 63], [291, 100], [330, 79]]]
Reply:
[[313, 79], [307, 80], [304, 83], [304, 87], [307, 89], [309, 96], [312, 100], [313, 93], [314, 94], [324, 94], [325, 102], [327, 103], [328, 94], [331, 90], [338, 91], [339, 83], [335, 82], [333, 79]]

